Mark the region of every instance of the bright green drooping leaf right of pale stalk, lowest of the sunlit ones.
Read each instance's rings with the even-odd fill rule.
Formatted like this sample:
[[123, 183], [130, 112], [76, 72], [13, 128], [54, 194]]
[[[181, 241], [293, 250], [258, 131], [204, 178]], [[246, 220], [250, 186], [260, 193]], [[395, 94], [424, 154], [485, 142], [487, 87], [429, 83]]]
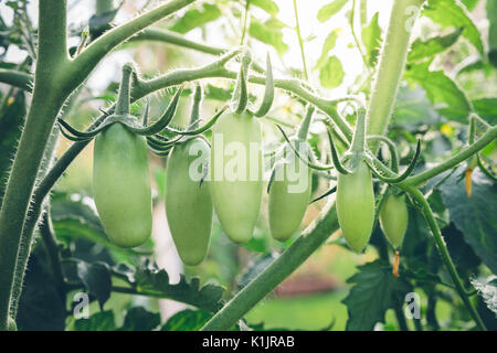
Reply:
[[466, 95], [443, 71], [430, 71], [430, 64], [411, 65], [404, 77], [423, 87], [436, 110], [447, 119], [467, 122], [470, 106]]

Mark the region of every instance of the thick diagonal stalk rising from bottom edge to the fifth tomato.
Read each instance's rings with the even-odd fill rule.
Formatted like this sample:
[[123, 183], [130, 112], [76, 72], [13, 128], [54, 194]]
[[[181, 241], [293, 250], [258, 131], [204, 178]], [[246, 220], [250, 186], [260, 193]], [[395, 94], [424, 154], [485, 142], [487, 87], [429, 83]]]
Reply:
[[328, 202], [321, 212], [321, 216], [290, 247], [212, 317], [202, 328], [202, 331], [230, 330], [248, 310], [309, 258], [337, 229], [336, 207]]

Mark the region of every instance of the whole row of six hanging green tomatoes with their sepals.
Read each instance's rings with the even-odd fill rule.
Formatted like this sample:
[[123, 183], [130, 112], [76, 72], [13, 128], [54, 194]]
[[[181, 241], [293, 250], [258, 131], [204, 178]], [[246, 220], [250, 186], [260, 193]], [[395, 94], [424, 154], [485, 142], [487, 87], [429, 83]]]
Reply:
[[[166, 215], [178, 254], [184, 264], [193, 266], [204, 259], [209, 249], [214, 213], [230, 239], [239, 244], [251, 239], [261, 212], [265, 184], [262, 148], [256, 150], [255, 156], [239, 153], [233, 157], [233, 159], [242, 158], [243, 160], [236, 163], [247, 170], [253, 168], [255, 159], [257, 167], [261, 167], [257, 168], [255, 178], [231, 180], [213, 175], [216, 168], [224, 170], [226, 163], [233, 163], [233, 160], [224, 156], [225, 146], [237, 143], [244, 147], [246, 153], [251, 150], [251, 146], [262, 146], [257, 118], [265, 116], [273, 103], [272, 67], [267, 58], [264, 98], [260, 108], [252, 111], [247, 107], [246, 87], [250, 65], [251, 56], [245, 53], [241, 60], [231, 107], [226, 105], [201, 127], [199, 127], [202, 99], [200, 84], [195, 85], [190, 125], [184, 130], [169, 127], [183, 86], [179, 87], [166, 113], [156, 122], [148, 124], [148, 105], [142, 122], [131, 116], [129, 104], [131, 77], [135, 72], [133, 64], [124, 66], [117, 101], [113, 110], [109, 109], [112, 115], [108, 115], [99, 127], [82, 132], [64, 120], [59, 120], [62, 133], [71, 140], [84, 141], [95, 138], [93, 171], [95, 205], [105, 232], [114, 244], [120, 247], [136, 247], [151, 235], [152, 200], [148, 150], [167, 157]], [[225, 111], [229, 108], [231, 111]], [[318, 164], [306, 142], [313, 113], [314, 108], [309, 107], [294, 138], [288, 138], [281, 129], [286, 142], [273, 154], [274, 169], [267, 184], [271, 234], [275, 239], [285, 242], [299, 229], [311, 197], [311, 170], [322, 171], [334, 168], [338, 171], [337, 184], [324, 196], [336, 191], [341, 233], [349, 247], [360, 253], [369, 242], [376, 220], [372, 172], [389, 183], [405, 179], [414, 168], [419, 146], [413, 163], [402, 175], [390, 179], [382, 176], [366, 153], [366, 119], [363, 109], [359, 109], [349, 150], [339, 158], [328, 129], [334, 165]], [[219, 138], [209, 141], [202, 135], [208, 129], [212, 129], [212, 136]], [[192, 153], [192, 150], [195, 153]], [[392, 165], [398, 164], [396, 159], [392, 160]], [[193, 163], [198, 171], [200, 170], [202, 175], [200, 180], [192, 178]], [[219, 163], [221, 165], [218, 165]], [[304, 181], [304, 188], [292, 190], [290, 185], [298, 180]], [[393, 247], [398, 248], [408, 225], [405, 195], [389, 188], [381, 203], [379, 218], [383, 233]]]

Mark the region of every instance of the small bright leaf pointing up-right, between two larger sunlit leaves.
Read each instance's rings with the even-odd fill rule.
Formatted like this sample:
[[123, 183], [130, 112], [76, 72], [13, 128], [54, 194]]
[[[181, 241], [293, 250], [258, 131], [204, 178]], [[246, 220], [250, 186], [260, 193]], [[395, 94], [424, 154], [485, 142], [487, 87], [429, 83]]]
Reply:
[[415, 40], [409, 53], [408, 62], [413, 63], [424, 58], [432, 58], [457, 42], [461, 33], [463, 33], [463, 29], [457, 29], [447, 35], [436, 35], [426, 41]]

